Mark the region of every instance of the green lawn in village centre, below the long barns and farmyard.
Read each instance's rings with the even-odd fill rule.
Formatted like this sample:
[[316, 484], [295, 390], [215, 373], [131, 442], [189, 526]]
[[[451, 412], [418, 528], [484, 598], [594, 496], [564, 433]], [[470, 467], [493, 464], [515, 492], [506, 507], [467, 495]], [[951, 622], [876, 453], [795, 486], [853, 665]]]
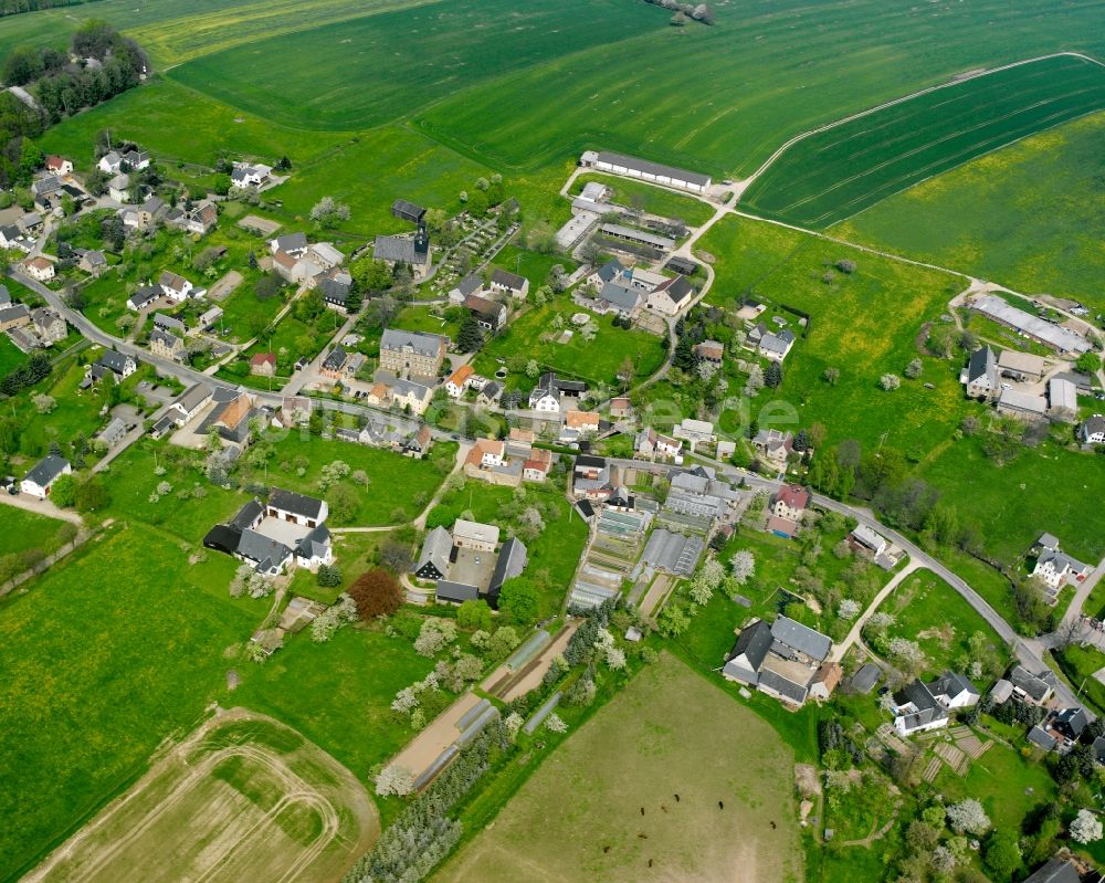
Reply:
[[[598, 326], [590, 343], [569, 322], [577, 313], [587, 313]], [[552, 325], [558, 314], [564, 319], [564, 332], [572, 332], [567, 343], [559, 343], [564, 332], [557, 332]], [[663, 339], [656, 335], [615, 328], [611, 316], [589, 314], [564, 296], [512, 318], [502, 333], [484, 344], [473, 365], [477, 372], [492, 377], [512, 356], [519, 355], [536, 359], [543, 369], [560, 371], [592, 385], [617, 386], [617, 374], [625, 359], [633, 364], [636, 377], [648, 377], [663, 362], [664, 348]], [[522, 377], [515, 379], [527, 388], [533, 386]]]

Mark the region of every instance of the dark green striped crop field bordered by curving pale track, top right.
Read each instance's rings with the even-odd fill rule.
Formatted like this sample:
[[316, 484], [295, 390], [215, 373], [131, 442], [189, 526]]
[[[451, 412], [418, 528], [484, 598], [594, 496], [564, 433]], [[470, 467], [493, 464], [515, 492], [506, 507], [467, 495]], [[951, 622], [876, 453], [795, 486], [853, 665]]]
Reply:
[[911, 185], [1105, 108], [1105, 66], [1059, 55], [938, 88], [800, 140], [743, 204], [808, 227], [850, 218]]

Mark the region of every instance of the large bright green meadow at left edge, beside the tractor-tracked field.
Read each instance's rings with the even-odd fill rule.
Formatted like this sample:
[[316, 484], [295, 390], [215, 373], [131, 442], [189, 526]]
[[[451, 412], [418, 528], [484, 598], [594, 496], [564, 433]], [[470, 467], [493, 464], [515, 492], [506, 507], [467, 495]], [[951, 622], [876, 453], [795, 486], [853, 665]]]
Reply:
[[[0, 879], [28, 871], [194, 726], [261, 614], [231, 603], [229, 558], [116, 528], [0, 605]], [[122, 581], [120, 581], [120, 578]], [[223, 581], [222, 585], [225, 585]]]

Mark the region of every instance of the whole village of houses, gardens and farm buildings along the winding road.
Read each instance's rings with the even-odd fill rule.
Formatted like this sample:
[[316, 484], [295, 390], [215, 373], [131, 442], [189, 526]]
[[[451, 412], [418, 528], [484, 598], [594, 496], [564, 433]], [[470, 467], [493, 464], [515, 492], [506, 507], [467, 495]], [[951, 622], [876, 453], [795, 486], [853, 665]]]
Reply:
[[[314, 474], [320, 461], [308, 452], [330, 442], [338, 456], [323, 474], [345, 477], [345, 461], [369, 450], [394, 458], [373, 462], [396, 470], [432, 465], [444, 483], [418, 497], [398, 479], [388, 486], [391, 466], [371, 485], [356, 482], [356, 495], [414, 501], [398, 509], [409, 547], [393, 575], [402, 602], [428, 609], [424, 622], [478, 609], [487, 622], [524, 628], [392, 760], [402, 793], [428, 788], [501, 706], [555, 683], [581, 623], [622, 611], [629, 624], [610, 640], [632, 652], [653, 633], [677, 640], [715, 593], [727, 599], [713, 634], [726, 644], [712, 661], [716, 679], [746, 701], [764, 694], [793, 713], [840, 695], [865, 703], [865, 750], [887, 766], [906, 758], [929, 782], [940, 764], [966, 775], [990, 744], [968, 728], [982, 709], [1017, 722], [1035, 761], [1082, 753], [1105, 764], [1105, 732], [1043, 661], [1064, 626], [1064, 645], [1105, 647], [1099, 623], [1081, 613], [1102, 566], [1067, 554], [1041, 524], [1018, 580], [1049, 608], [1072, 593], [1081, 600], [1053, 630], [1022, 640], [903, 532], [820, 493], [814, 424], [782, 412], [772, 423], [761, 412], [734, 427], [725, 390], [777, 389], [810, 316], [749, 296], [732, 309], [708, 305], [715, 276], [691, 256], [695, 228], [615, 201], [628, 178], [719, 210], [732, 196], [725, 186], [585, 153], [564, 191], [571, 220], [556, 231], [555, 251], [540, 253], [523, 244], [525, 207], [501, 181], [476, 185], [495, 197], [484, 217], [441, 218], [398, 200], [391, 213], [402, 231], [357, 244], [320, 224], [287, 231], [264, 216], [266, 190], [294, 175], [275, 161], [233, 164], [229, 196], [170, 192], [156, 164], [125, 145], [82, 177], [70, 159], [50, 156], [30, 210], [0, 211], [11, 278], [0, 290], [0, 332], [27, 358], [4, 392], [41, 389], [51, 365], [71, 359], [73, 382], [35, 395], [31, 423], [61, 420], [66, 409], [82, 420], [78, 440], [48, 432], [44, 456], [8, 452], [3, 502], [56, 513], [73, 507], [74, 488], [99, 483], [110, 494], [112, 463], [131, 446], [202, 460], [213, 487], [241, 493], [193, 545], [233, 559], [240, 591], [275, 593], [251, 639], [251, 658], [263, 663], [286, 641], [307, 640], [302, 632], [340, 621], [349, 596], [330, 589], [350, 581], [340, 576], [354, 570], [345, 550], [358, 530], [390, 529], [358, 524], [362, 505], [345, 485], [337, 498], [328, 482], [281, 482], [296, 470]], [[577, 182], [581, 175], [600, 179]], [[846, 264], [838, 272], [854, 272]], [[970, 317], [979, 316], [1004, 335], [967, 353], [961, 368], [979, 419], [1059, 427], [1092, 456], [1105, 445], [1105, 393], [1077, 306], [1049, 304], [1054, 320], [1044, 320], [1000, 291], [972, 290], [949, 309], [959, 325], [968, 317], [977, 328]], [[673, 370], [705, 389], [695, 407], [650, 395]], [[883, 380], [886, 390], [902, 382]], [[287, 445], [275, 473], [296, 444], [309, 466], [270, 475], [273, 452]], [[172, 491], [161, 484], [168, 490], [151, 503]], [[511, 501], [519, 514], [480, 519], [476, 495], [485, 512]], [[451, 517], [434, 517], [445, 508]], [[579, 537], [568, 561], [551, 550], [565, 525]], [[770, 585], [746, 588], [761, 560], [790, 557], [790, 569], [767, 568]], [[930, 671], [916, 643], [887, 639], [894, 618], [883, 605], [918, 572], [965, 586], [994, 628], [985, 651]], [[540, 621], [516, 612], [526, 605]], [[565, 696], [549, 693], [527, 732]]]

